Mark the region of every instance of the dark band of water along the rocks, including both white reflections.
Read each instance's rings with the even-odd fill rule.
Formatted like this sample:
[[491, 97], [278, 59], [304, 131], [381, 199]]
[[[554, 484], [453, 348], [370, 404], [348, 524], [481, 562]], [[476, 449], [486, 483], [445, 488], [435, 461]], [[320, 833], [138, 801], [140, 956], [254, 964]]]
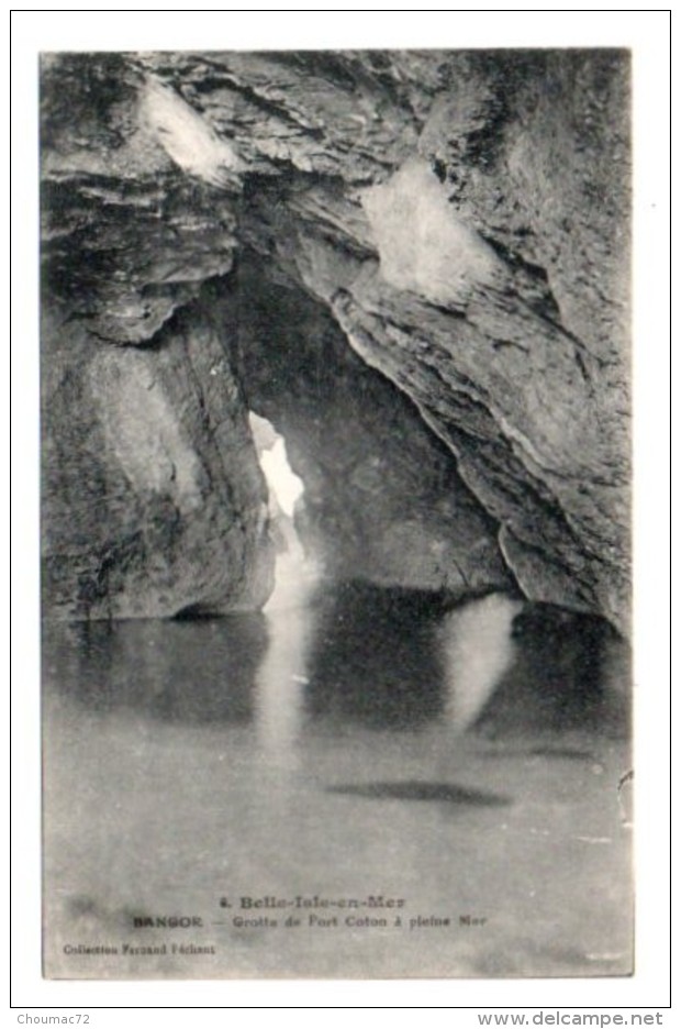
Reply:
[[603, 667], [612, 635], [590, 619], [534, 623], [501, 595], [446, 611], [418, 590], [320, 585], [295, 551], [279, 568], [266, 615], [47, 626], [45, 681], [101, 713], [254, 723], [282, 766], [313, 724], [437, 723], [453, 739], [473, 728], [485, 738], [626, 731], [622, 646], [617, 690]]

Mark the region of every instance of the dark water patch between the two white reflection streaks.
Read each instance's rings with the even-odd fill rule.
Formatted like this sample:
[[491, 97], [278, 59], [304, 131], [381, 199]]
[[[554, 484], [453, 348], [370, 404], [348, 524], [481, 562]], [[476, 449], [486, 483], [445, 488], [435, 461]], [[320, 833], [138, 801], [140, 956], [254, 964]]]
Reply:
[[413, 729], [443, 711], [434, 628], [437, 595], [342, 583], [313, 600], [305, 709], [312, 718], [370, 729]]

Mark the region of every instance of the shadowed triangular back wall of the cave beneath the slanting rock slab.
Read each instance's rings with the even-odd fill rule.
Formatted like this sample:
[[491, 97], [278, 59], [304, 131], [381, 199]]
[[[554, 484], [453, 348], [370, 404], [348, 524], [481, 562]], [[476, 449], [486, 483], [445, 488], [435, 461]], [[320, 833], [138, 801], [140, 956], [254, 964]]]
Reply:
[[228, 318], [255, 424], [284, 439], [271, 451], [256, 439], [260, 463], [286, 445], [305, 487], [293, 520], [325, 579], [417, 593], [426, 606], [512, 588], [498, 524], [454, 453], [326, 303], [246, 248]]

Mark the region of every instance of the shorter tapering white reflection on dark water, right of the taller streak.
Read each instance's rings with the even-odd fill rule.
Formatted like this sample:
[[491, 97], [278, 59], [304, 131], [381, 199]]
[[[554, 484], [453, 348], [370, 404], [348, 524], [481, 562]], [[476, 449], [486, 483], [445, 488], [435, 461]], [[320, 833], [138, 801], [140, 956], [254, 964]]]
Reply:
[[511, 635], [523, 604], [491, 594], [453, 611], [440, 627], [447, 715], [457, 732], [473, 724], [516, 652]]

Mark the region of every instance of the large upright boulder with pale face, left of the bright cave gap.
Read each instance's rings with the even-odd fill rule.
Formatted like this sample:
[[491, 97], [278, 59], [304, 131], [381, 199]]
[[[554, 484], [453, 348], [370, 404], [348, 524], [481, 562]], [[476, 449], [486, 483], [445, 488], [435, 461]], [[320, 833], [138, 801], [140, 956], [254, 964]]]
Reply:
[[47, 612], [153, 617], [267, 599], [266, 490], [220, 340], [200, 303], [148, 347], [45, 327]]

